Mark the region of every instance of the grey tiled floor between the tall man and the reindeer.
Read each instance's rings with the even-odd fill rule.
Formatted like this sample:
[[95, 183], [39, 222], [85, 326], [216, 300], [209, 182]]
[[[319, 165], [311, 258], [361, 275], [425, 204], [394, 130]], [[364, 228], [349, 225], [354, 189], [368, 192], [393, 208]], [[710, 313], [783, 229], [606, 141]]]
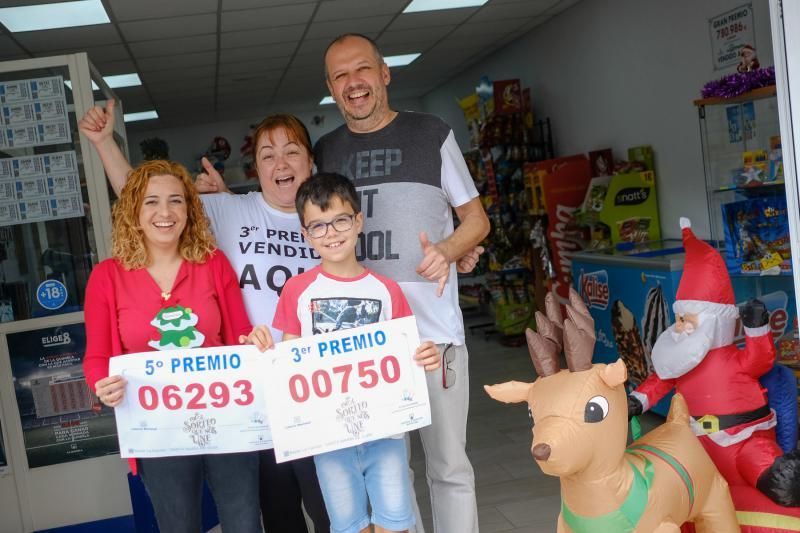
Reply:
[[[470, 319], [467, 318], [467, 324]], [[530, 453], [527, 406], [489, 398], [483, 385], [511, 379], [532, 381], [533, 364], [526, 347], [509, 348], [497, 336], [481, 331], [467, 335], [470, 352], [470, 413], [467, 453], [475, 469], [481, 533], [550, 533], [561, 505], [558, 479], [544, 475]], [[663, 421], [663, 419], [661, 419]], [[645, 428], [660, 423], [655, 415]], [[412, 437], [415, 489], [425, 530], [433, 533], [425, 464], [419, 437]], [[460, 533], [460, 532], [437, 532]]]

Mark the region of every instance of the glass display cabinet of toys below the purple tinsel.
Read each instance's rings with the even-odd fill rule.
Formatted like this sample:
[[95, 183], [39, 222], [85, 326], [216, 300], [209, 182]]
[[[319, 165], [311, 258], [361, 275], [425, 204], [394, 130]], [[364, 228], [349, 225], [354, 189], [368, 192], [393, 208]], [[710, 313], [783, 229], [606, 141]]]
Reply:
[[779, 360], [800, 368], [775, 87], [694, 104], [711, 239], [725, 258], [737, 301], [765, 302]]

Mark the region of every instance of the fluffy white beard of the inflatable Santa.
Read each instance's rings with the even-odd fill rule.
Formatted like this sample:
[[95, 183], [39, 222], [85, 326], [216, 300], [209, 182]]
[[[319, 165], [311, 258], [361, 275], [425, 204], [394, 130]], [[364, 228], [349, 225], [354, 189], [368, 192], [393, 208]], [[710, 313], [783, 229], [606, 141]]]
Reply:
[[678, 333], [673, 324], [659, 335], [652, 352], [658, 377], [678, 378], [699, 365], [708, 351], [716, 347], [717, 320], [714, 315], [705, 315], [691, 333]]

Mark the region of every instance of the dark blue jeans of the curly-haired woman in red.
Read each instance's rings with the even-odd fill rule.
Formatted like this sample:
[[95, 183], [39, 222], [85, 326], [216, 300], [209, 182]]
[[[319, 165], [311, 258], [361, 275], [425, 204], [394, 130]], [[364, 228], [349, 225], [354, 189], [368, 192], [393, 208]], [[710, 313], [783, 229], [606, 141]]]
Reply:
[[225, 533], [260, 533], [258, 453], [137, 459], [162, 533], [199, 533], [203, 479]]

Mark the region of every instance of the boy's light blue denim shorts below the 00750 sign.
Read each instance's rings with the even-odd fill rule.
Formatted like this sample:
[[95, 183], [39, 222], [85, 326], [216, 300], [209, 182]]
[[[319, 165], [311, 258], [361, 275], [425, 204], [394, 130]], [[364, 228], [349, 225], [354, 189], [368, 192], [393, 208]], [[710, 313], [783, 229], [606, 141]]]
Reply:
[[405, 439], [322, 453], [314, 463], [331, 533], [358, 533], [370, 522], [390, 531], [414, 525]]

